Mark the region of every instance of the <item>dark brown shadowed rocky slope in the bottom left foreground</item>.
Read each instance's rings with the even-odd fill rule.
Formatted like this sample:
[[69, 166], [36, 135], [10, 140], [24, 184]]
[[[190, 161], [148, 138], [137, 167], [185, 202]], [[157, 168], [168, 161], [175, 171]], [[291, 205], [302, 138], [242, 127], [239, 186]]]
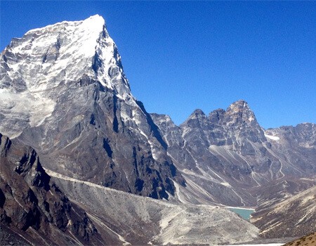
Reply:
[[51, 183], [34, 149], [0, 134], [0, 153], [0, 224], [4, 240], [11, 242], [10, 235], [15, 235], [20, 239], [14, 242], [38, 245], [105, 242], [87, 214]]

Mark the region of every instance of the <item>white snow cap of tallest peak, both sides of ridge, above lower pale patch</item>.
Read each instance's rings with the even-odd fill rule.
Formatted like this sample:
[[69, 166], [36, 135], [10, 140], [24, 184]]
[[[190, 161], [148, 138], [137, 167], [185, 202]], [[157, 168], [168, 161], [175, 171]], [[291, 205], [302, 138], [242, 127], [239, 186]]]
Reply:
[[130, 94], [117, 46], [100, 15], [30, 30], [13, 39], [3, 56], [7, 77], [20, 81], [6, 83], [10, 91], [43, 91], [88, 75], [121, 95]]

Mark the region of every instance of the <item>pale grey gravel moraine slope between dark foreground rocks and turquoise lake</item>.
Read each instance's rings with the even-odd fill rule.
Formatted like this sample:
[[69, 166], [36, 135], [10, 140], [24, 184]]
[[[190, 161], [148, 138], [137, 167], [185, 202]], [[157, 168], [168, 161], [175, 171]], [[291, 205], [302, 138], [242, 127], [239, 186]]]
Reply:
[[219, 245], [248, 242], [258, 229], [237, 214], [209, 205], [179, 205], [124, 193], [48, 171], [98, 226], [132, 245]]

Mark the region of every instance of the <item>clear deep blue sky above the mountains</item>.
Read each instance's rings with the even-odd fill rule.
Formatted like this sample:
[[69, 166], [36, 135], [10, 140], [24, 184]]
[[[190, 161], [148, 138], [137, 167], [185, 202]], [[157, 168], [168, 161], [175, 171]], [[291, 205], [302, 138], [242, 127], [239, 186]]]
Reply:
[[316, 1], [1, 1], [1, 51], [96, 13], [148, 112], [180, 124], [244, 99], [265, 128], [316, 123]]

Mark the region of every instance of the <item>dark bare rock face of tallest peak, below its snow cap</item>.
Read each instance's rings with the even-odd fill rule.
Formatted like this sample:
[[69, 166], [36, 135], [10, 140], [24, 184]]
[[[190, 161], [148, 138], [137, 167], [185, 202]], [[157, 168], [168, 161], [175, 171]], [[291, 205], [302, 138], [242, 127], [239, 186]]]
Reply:
[[[65, 88], [65, 94], [66, 90], [69, 88]], [[19, 136], [25, 143], [39, 148], [48, 169], [153, 198], [167, 199], [166, 191], [174, 193], [170, 180], [173, 178], [173, 164], [157, 138], [154, 138], [154, 131], [147, 124], [148, 119], [142, 111], [141, 124], [147, 126], [145, 134], [152, 138], [152, 144], [162, 152], [162, 160], [154, 160], [145, 137], [125, 126], [119, 112], [121, 108], [129, 106], [116, 98], [114, 91], [101, 90], [100, 84], [96, 82], [72, 88], [72, 93], [81, 94], [82, 97], [74, 99], [62, 95], [56, 105], [58, 109], [52, 114], [52, 122], [26, 129]], [[80, 108], [70, 103], [78, 99], [85, 103], [91, 102], [84, 107], [80, 105]], [[64, 107], [68, 113], [60, 115], [60, 108]], [[57, 131], [49, 127], [53, 124]], [[38, 133], [43, 134], [30, 139]], [[45, 148], [40, 147], [43, 139]], [[61, 168], [60, 164], [65, 167]]]

